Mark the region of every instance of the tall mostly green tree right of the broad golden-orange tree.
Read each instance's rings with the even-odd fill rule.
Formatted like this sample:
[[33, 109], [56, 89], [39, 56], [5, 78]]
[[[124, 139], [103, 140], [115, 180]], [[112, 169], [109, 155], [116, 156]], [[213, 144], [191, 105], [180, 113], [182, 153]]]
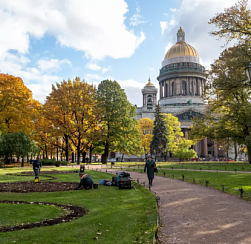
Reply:
[[[134, 117], [135, 109], [127, 100], [126, 93], [116, 81], [103, 80], [97, 89], [97, 100], [103, 109], [103, 134], [99, 140], [99, 148], [104, 148], [102, 162], [107, 163], [108, 153], [111, 150], [127, 151], [134, 136], [138, 137]], [[122, 144], [122, 145], [121, 145]]]

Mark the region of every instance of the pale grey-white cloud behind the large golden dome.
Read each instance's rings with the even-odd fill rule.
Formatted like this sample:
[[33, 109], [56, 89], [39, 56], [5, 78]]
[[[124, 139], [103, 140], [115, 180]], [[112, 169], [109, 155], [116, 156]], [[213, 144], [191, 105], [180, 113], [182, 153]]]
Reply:
[[219, 57], [224, 40], [217, 41], [210, 36], [214, 30], [208, 21], [216, 13], [223, 12], [225, 8], [233, 6], [236, 0], [183, 0], [180, 7], [172, 13], [172, 19], [168, 21], [164, 36], [168, 42], [165, 52], [176, 43], [176, 33], [179, 29], [177, 23], [181, 23], [186, 33], [186, 42], [192, 45], [203, 60], [203, 65], [209, 66], [214, 59]]

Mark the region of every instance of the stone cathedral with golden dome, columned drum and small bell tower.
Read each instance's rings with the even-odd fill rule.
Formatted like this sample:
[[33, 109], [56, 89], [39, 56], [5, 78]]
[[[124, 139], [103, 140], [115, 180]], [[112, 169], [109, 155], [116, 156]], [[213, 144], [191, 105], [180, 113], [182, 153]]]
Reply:
[[[161, 111], [178, 117], [185, 137], [191, 127], [192, 118], [204, 113], [206, 104], [203, 94], [207, 76], [198, 52], [185, 42], [185, 32], [180, 27], [177, 43], [167, 51], [157, 80]], [[157, 93], [158, 89], [149, 79], [142, 89], [143, 106], [136, 109], [137, 120], [145, 117], [154, 119], [154, 110], [158, 103]], [[216, 143], [209, 142], [207, 138], [197, 141], [193, 149], [201, 158], [223, 156], [218, 155]]]

